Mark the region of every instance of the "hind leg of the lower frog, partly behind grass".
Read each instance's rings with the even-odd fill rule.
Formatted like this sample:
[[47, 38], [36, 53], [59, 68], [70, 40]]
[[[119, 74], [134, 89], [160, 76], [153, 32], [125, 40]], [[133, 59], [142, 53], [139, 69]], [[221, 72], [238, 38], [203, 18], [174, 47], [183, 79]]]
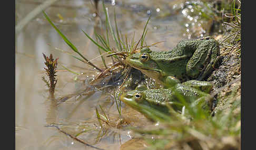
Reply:
[[210, 93], [213, 87], [213, 84], [211, 82], [198, 81], [198, 80], [189, 80], [189, 81], [183, 82], [182, 84], [188, 85], [189, 87], [198, 89], [205, 93]]

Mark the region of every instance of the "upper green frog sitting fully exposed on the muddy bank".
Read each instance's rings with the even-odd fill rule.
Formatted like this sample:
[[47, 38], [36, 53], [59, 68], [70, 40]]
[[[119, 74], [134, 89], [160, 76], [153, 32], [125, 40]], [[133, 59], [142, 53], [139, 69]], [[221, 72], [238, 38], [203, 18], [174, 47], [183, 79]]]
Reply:
[[144, 48], [127, 57], [126, 62], [165, 88], [188, 80], [203, 80], [218, 65], [219, 42], [212, 37], [180, 41], [170, 51]]

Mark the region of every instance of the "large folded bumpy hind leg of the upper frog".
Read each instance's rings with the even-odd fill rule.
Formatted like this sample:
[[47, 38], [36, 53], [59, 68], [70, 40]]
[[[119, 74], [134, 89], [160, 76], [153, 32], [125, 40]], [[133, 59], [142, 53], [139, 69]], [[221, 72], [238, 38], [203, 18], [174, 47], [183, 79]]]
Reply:
[[186, 65], [186, 73], [192, 79], [202, 80], [211, 73], [220, 56], [219, 42], [213, 38], [205, 39], [193, 53]]

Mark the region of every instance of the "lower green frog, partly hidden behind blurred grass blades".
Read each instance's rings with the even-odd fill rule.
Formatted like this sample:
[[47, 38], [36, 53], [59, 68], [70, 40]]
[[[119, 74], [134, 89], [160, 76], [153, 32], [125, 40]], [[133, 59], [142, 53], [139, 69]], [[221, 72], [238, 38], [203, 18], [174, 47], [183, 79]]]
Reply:
[[[181, 95], [184, 100], [191, 104], [191, 106], [199, 105], [208, 106], [206, 98], [210, 97], [209, 93], [203, 92], [199, 89], [193, 88], [193, 84], [200, 85], [194, 80], [177, 83], [172, 88], [168, 89], [147, 89], [145, 85], [138, 85], [135, 90], [123, 93], [121, 101], [131, 106], [131, 108], [139, 111], [144, 116], [152, 121], [160, 121], [168, 119], [169, 106], [174, 111], [181, 111], [183, 103], [180, 101]], [[212, 88], [212, 84], [208, 84], [207, 91]], [[192, 87], [191, 87], [192, 85]], [[199, 86], [198, 86], [199, 87]], [[159, 120], [160, 119], [160, 120]]]

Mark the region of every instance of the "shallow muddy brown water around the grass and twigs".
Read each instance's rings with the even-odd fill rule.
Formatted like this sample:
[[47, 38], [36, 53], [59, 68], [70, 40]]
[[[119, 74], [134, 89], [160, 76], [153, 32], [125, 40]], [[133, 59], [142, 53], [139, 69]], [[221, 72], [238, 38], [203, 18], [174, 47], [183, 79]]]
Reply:
[[[44, 1], [16, 1], [16, 25], [35, 7], [42, 4], [41, 2]], [[129, 41], [133, 33], [135, 33], [135, 41], [139, 40], [149, 15], [152, 15], [147, 25], [145, 42], [151, 45], [164, 40], [157, 47], [152, 47], [152, 50], [169, 50], [177, 42], [185, 39], [182, 34], [184, 28], [184, 23], [181, 23], [182, 14], [172, 12], [173, 4], [174, 1], [170, 0], [112, 1], [112, 4], [105, 2], [112, 21], [115, 9], [117, 25], [122, 30], [122, 34], [127, 35]], [[99, 14], [102, 22], [98, 27], [94, 27], [96, 17], [91, 1], [57, 1], [46, 8], [45, 12], [86, 58], [93, 59], [99, 56], [97, 47], [88, 40], [82, 30], [89, 35], [93, 35], [93, 30], [105, 33], [104, 28], [100, 30], [100, 25], [104, 26], [105, 23], [101, 1]], [[46, 76], [42, 53], [46, 56], [52, 53], [54, 58], [59, 58], [55, 98], [86, 89], [87, 76], [93, 78], [97, 73], [92, 67], [57, 50], [73, 53], [42, 13], [16, 33], [15, 48], [16, 149], [94, 149], [73, 140], [54, 127], [45, 127], [51, 123], [59, 125], [69, 134], [81, 133], [78, 138], [96, 147], [127, 149], [124, 143], [131, 140], [130, 130], [113, 127], [101, 131], [96, 118], [95, 106], [100, 104], [114, 121], [118, 120], [119, 115], [110, 93], [96, 91], [90, 95], [71, 98], [60, 105], [56, 105], [48, 98], [48, 90], [41, 79], [42, 76]], [[92, 62], [103, 67], [101, 58]], [[61, 65], [80, 73], [80, 76], [77, 77], [76, 74], [66, 71]], [[125, 104], [122, 104], [122, 115], [126, 118], [130, 117], [130, 126], [150, 124], [144, 116], [127, 108]], [[103, 133], [105, 135], [99, 138], [98, 136]], [[143, 148], [143, 144], [141, 146]]]

